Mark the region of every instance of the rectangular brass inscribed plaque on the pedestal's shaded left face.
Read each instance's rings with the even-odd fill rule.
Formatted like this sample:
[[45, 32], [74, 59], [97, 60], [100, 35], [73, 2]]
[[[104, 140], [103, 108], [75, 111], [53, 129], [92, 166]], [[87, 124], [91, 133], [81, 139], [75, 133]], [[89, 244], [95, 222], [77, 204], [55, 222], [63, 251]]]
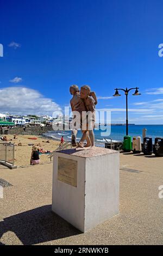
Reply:
[[77, 187], [78, 162], [64, 157], [58, 157], [58, 180]]

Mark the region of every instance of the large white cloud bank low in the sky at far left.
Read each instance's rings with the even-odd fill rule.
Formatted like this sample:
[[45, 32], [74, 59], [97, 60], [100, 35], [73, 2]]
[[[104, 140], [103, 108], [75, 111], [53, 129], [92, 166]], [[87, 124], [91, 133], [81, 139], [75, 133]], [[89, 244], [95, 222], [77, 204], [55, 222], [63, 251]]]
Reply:
[[0, 112], [10, 114], [50, 114], [60, 111], [60, 106], [37, 90], [26, 87], [0, 89]]

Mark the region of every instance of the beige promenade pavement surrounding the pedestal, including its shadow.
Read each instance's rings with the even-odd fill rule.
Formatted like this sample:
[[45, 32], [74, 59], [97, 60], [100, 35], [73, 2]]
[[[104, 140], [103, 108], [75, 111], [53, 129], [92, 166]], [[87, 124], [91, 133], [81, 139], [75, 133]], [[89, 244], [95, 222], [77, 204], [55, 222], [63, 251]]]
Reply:
[[162, 245], [163, 158], [126, 153], [120, 159], [120, 214], [85, 234], [51, 211], [52, 163], [0, 166], [0, 179], [12, 185], [0, 198], [0, 244]]

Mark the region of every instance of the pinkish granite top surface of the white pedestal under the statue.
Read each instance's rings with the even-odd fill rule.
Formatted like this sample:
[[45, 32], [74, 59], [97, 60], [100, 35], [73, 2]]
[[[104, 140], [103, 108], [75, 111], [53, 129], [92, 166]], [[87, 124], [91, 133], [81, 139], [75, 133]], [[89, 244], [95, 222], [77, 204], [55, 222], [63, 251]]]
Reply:
[[90, 149], [65, 149], [59, 150], [58, 153], [64, 153], [67, 155], [79, 156], [79, 157], [93, 157], [93, 156], [100, 156], [100, 155], [107, 155], [112, 153], [118, 153], [116, 150], [112, 149], [105, 149], [100, 147], [94, 147]]

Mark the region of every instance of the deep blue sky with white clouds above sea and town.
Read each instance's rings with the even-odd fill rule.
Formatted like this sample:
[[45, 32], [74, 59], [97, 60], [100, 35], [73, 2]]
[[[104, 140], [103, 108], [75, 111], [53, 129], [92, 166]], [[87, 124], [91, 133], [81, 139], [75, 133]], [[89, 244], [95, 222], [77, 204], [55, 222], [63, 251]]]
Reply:
[[97, 109], [125, 123], [125, 96], [111, 96], [137, 86], [129, 122], [163, 124], [162, 14], [161, 0], [1, 0], [0, 113], [52, 115], [71, 84], [89, 84]]

